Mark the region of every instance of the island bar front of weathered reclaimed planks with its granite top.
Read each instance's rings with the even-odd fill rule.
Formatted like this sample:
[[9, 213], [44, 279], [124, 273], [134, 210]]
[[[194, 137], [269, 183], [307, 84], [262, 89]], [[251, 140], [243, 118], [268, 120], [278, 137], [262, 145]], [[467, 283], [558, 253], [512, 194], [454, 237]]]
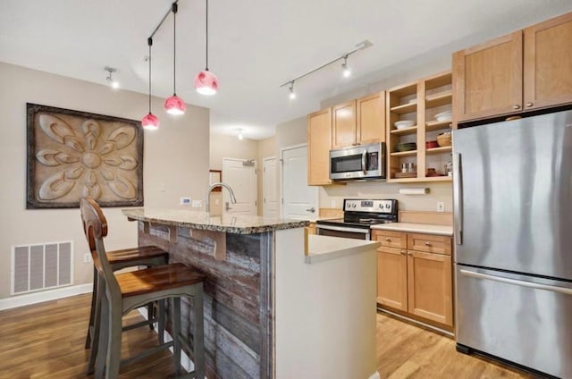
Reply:
[[[164, 248], [172, 263], [206, 274], [206, 376], [272, 378], [273, 234], [307, 222], [187, 210], [122, 212], [139, 222], [139, 245]], [[184, 300], [181, 313], [181, 331], [192, 341], [192, 312]]]

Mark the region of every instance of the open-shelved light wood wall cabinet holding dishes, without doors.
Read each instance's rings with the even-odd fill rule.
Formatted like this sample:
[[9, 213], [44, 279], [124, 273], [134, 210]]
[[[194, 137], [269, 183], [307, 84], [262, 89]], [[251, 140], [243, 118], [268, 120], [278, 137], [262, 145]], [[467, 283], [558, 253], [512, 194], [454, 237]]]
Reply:
[[[439, 134], [450, 131], [451, 121], [435, 116], [451, 110], [451, 72], [443, 72], [408, 85], [391, 88], [386, 95], [388, 182], [451, 181], [445, 164], [451, 161], [451, 146], [426, 147]], [[398, 129], [395, 122], [411, 121], [413, 126]], [[407, 151], [401, 144], [413, 143]], [[413, 164], [414, 173], [402, 173], [402, 164]], [[435, 174], [428, 173], [434, 169]]]

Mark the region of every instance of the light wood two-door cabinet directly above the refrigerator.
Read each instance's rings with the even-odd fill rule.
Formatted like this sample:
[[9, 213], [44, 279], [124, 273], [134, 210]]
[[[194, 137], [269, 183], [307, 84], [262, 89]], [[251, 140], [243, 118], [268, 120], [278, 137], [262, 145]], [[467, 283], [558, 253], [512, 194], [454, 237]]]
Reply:
[[453, 55], [456, 122], [572, 103], [572, 13]]

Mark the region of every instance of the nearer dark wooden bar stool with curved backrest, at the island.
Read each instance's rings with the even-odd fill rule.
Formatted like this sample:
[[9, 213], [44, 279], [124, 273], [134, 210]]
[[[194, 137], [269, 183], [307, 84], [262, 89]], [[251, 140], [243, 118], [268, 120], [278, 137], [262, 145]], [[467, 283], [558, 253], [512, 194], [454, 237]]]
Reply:
[[[181, 345], [185, 346], [194, 361], [191, 377], [205, 377], [205, 348], [203, 330], [203, 282], [205, 275], [182, 264], [160, 265], [124, 274], [114, 274], [105, 253], [104, 238], [107, 221], [101, 208], [92, 198], [80, 199], [83, 229], [99, 275], [98, 291], [101, 293], [100, 333], [94, 335], [93, 350], [97, 349], [96, 378], [114, 379], [122, 364], [146, 358], [158, 350], [173, 348], [175, 373], [181, 375]], [[193, 312], [192, 349], [181, 335], [181, 297], [190, 299]], [[122, 316], [150, 301], [163, 302], [172, 299], [172, 341], [139, 353], [122, 361]], [[96, 348], [97, 345], [97, 348]]]

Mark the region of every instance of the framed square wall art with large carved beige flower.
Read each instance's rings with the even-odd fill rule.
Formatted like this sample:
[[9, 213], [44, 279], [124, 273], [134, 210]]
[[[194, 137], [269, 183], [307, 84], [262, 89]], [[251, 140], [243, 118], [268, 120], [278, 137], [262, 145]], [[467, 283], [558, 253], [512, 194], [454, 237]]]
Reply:
[[143, 205], [138, 121], [27, 104], [28, 209]]

